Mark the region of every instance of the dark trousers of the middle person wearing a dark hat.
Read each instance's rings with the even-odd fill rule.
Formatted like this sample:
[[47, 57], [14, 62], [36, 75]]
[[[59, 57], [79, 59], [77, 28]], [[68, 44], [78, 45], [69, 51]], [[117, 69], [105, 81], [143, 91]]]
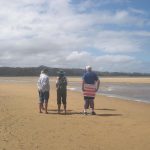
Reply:
[[57, 90], [57, 104], [63, 103], [66, 105], [66, 99], [67, 99], [67, 91], [59, 91]]

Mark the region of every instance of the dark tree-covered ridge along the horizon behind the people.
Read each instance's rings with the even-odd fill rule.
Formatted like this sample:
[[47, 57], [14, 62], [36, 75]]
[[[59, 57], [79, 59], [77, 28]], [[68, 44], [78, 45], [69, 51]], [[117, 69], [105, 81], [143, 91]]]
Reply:
[[[78, 68], [51, 68], [46, 66], [40, 67], [0, 67], [0, 76], [38, 76], [43, 68], [49, 70], [50, 76], [57, 76], [57, 72], [63, 69], [67, 76], [82, 76], [84, 69]], [[150, 73], [124, 73], [124, 72], [100, 72], [96, 71], [99, 76], [150, 76]]]

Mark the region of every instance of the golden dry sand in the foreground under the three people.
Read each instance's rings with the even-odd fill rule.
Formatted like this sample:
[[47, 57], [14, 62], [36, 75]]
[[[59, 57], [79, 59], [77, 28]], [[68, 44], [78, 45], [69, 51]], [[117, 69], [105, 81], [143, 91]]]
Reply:
[[51, 83], [49, 114], [39, 114], [36, 79], [0, 82], [0, 150], [150, 149], [150, 104], [97, 95], [97, 115], [84, 116], [82, 94], [68, 91], [68, 114], [58, 115]]

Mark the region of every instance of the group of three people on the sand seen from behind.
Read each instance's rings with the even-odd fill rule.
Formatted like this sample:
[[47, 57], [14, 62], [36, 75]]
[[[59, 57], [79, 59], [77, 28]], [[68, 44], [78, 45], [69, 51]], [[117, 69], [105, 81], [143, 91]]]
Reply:
[[[45, 110], [47, 114], [48, 100], [50, 83], [48, 76], [48, 69], [43, 69], [41, 71], [40, 77], [37, 82], [38, 92], [39, 92], [39, 112], [42, 113], [42, 109]], [[91, 108], [91, 114], [95, 115], [94, 111], [94, 98], [100, 86], [100, 80], [95, 72], [92, 71], [91, 66], [86, 66], [86, 72], [82, 77], [82, 91], [84, 96], [84, 115], [87, 115], [87, 109]], [[58, 77], [56, 80], [57, 89], [57, 106], [58, 113], [60, 113], [61, 103], [64, 106], [64, 113], [66, 114], [66, 98], [67, 98], [67, 78], [65, 73], [61, 70], [58, 72]]]

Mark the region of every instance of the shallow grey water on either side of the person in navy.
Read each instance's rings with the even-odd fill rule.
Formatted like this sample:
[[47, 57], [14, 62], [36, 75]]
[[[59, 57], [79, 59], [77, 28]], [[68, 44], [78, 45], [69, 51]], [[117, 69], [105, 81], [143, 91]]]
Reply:
[[[81, 91], [81, 83], [70, 83], [70, 90]], [[150, 103], [150, 84], [101, 83], [98, 94]]]

